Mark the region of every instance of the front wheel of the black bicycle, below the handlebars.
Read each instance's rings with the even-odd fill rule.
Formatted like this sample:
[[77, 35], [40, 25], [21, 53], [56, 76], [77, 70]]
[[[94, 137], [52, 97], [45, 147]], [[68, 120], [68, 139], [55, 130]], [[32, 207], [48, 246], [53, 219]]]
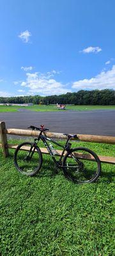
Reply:
[[40, 170], [42, 161], [42, 152], [33, 143], [24, 142], [15, 150], [15, 167], [22, 174], [35, 175]]

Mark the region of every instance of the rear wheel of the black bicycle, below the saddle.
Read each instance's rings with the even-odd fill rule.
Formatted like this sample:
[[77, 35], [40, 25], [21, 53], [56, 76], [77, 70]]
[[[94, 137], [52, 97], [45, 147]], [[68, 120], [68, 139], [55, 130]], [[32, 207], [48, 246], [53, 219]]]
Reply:
[[100, 159], [88, 148], [72, 148], [63, 158], [63, 172], [79, 184], [95, 182], [101, 172]]

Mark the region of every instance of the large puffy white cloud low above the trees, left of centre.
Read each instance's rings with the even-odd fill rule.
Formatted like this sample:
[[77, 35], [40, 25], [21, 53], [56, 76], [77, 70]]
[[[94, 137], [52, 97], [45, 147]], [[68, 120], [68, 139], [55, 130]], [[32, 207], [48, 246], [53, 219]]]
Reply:
[[40, 93], [41, 95], [54, 95], [71, 92], [66, 88], [67, 84], [62, 84], [54, 79], [54, 72], [41, 74], [39, 72], [27, 73], [26, 81], [21, 86], [29, 88], [29, 94]]

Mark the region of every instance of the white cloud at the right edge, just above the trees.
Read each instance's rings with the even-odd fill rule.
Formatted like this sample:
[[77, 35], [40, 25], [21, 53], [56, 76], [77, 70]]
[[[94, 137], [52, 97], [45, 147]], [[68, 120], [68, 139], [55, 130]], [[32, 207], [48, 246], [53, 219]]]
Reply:
[[103, 90], [115, 88], [115, 65], [111, 70], [103, 71], [91, 79], [83, 79], [72, 84], [72, 88], [79, 90]]

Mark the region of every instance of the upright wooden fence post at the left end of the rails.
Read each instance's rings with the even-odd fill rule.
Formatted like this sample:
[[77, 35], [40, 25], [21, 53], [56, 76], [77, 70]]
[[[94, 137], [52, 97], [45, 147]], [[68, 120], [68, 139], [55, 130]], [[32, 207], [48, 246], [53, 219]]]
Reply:
[[7, 157], [9, 155], [8, 152], [8, 141], [6, 136], [6, 125], [5, 122], [0, 122], [0, 136], [1, 136], [1, 145], [3, 150], [4, 157]]

